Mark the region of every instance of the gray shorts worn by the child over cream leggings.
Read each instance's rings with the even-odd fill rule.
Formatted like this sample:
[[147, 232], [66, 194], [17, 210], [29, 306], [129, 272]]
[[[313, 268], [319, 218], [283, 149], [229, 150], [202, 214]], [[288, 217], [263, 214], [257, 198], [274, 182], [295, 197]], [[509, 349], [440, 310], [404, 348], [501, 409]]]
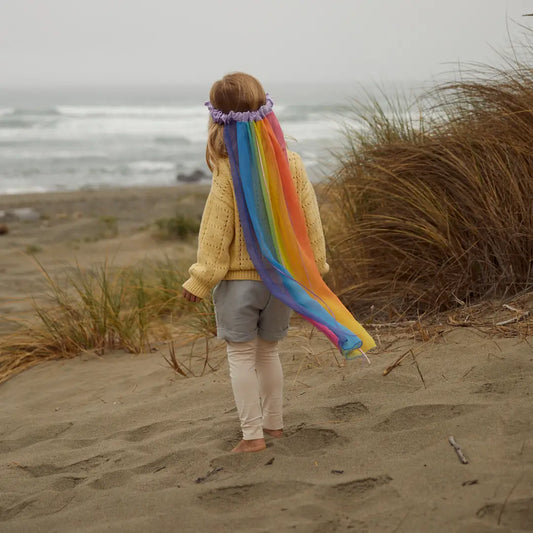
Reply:
[[219, 339], [248, 342], [259, 335], [278, 341], [287, 335], [292, 310], [262, 281], [222, 280], [213, 290], [213, 302]]

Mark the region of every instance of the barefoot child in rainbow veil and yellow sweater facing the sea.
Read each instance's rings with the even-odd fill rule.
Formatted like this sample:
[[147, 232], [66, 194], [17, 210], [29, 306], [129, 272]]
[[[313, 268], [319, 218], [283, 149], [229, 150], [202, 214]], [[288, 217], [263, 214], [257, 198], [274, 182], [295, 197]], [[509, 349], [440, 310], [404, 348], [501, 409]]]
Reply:
[[[213, 181], [183, 296], [199, 302], [214, 289], [243, 434], [232, 451], [260, 451], [265, 433], [283, 434], [278, 341], [291, 308], [310, 314], [332, 340], [343, 326], [328, 322], [338, 301], [321, 279], [329, 266], [315, 193], [300, 157], [285, 148], [271, 98], [254, 77], [236, 72], [213, 84], [206, 105]], [[317, 294], [320, 305], [310, 299]], [[347, 335], [356, 339], [342, 337], [347, 352], [363, 344]]]

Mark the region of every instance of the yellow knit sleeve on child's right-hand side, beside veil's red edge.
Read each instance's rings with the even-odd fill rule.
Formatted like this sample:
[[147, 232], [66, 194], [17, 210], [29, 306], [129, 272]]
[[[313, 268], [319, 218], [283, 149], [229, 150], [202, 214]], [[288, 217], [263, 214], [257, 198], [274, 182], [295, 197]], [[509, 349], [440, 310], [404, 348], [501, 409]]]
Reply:
[[307, 172], [300, 156], [291, 152], [290, 157], [291, 171], [293, 172], [296, 190], [304, 212], [307, 234], [309, 235], [318, 271], [323, 276], [329, 272], [329, 265], [326, 261], [326, 241], [315, 189], [307, 177]]

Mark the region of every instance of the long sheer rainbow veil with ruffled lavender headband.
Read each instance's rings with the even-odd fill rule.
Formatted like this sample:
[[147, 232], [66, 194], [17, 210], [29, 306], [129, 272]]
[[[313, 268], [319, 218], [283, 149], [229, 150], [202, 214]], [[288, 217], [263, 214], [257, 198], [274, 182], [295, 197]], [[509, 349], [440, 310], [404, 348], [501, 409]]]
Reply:
[[[372, 337], [322, 280], [289, 169], [283, 132], [266, 104], [222, 113], [233, 188], [246, 248], [270, 292], [322, 331], [347, 359], [375, 347]], [[365, 355], [366, 357], [366, 355]]]

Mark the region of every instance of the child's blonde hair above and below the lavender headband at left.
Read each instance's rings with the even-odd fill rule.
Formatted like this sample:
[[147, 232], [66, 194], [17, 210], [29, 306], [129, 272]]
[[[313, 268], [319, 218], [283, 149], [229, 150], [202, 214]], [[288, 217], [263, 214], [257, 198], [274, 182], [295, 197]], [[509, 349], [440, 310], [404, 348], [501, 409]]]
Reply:
[[[266, 94], [259, 81], [244, 72], [226, 74], [215, 81], [209, 92], [209, 100], [214, 108], [223, 113], [230, 111], [255, 111], [266, 103]], [[209, 117], [205, 160], [213, 171], [219, 159], [228, 156], [224, 144], [224, 126]]]

